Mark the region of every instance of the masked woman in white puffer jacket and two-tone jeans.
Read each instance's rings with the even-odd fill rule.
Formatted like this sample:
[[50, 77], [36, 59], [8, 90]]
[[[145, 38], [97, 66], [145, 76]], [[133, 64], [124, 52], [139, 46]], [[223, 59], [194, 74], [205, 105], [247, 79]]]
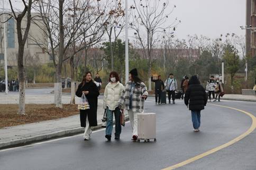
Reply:
[[109, 83], [105, 87], [103, 107], [106, 109], [107, 125], [106, 138], [111, 141], [113, 130], [113, 114], [115, 115], [115, 139], [120, 139], [122, 131], [121, 127], [121, 111], [118, 107], [118, 100], [124, 90], [124, 86], [120, 83], [119, 76], [116, 72], [111, 72], [109, 75]]

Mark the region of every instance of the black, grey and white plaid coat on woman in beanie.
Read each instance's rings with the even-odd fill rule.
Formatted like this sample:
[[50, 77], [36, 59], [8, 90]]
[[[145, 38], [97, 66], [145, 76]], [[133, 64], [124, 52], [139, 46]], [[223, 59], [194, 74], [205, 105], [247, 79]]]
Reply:
[[132, 108], [130, 108], [131, 87], [132, 82], [127, 82], [118, 101], [118, 106], [121, 108], [125, 105], [127, 110], [132, 109], [133, 112], [142, 112], [144, 109], [144, 99], [141, 97], [142, 95], [148, 96], [148, 89], [143, 82], [136, 83], [132, 94]]

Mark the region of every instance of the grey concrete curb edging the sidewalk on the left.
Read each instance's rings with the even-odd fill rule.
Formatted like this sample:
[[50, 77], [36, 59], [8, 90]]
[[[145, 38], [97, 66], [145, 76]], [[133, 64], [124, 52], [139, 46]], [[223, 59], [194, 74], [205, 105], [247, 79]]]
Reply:
[[[129, 121], [129, 116], [125, 116], [125, 121]], [[98, 124], [95, 127], [92, 127], [93, 131], [96, 131], [97, 129], [100, 128], [105, 128], [102, 127], [102, 123]], [[47, 133], [47, 134], [41, 134], [41, 135], [35, 135], [31, 137], [26, 137], [23, 139], [16, 139], [13, 141], [8, 141], [8, 142], [1, 142], [0, 143], [0, 150], [1, 149], [6, 149], [6, 148], [11, 148], [11, 147], [17, 147], [17, 146], [24, 146], [24, 145], [29, 145], [33, 144], [36, 142], [42, 142], [42, 141], [48, 141], [49, 139], [54, 139], [54, 138], [60, 138], [60, 137], [65, 137], [65, 136], [73, 136], [77, 134], [81, 134], [85, 132], [84, 127], [76, 127], [76, 128], [71, 128], [71, 129], [66, 129], [63, 131], [57, 131], [57, 132], [52, 132], [52, 133]]]

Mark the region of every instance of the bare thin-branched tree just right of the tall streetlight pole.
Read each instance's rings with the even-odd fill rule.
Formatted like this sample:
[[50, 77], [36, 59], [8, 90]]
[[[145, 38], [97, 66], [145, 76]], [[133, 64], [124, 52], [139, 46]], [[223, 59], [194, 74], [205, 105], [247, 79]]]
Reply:
[[[169, 1], [133, 0], [131, 6], [134, 9], [133, 22], [130, 23], [130, 26], [135, 31], [135, 38], [140, 42], [144, 55], [148, 58], [149, 77], [153, 63], [152, 49], [159, 41], [159, 33], [169, 34], [175, 31], [180, 22], [177, 18], [172, 23], [167, 21], [175, 7], [176, 5], [170, 9]], [[151, 91], [151, 78], [149, 78], [149, 90]]]

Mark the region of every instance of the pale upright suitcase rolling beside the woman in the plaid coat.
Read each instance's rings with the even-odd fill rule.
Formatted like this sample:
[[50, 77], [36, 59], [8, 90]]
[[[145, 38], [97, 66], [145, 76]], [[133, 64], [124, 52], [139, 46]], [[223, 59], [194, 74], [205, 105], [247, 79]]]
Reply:
[[156, 113], [138, 114], [138, 142], [150, 142], [150, 139], [157, 142], [156, 122]]

